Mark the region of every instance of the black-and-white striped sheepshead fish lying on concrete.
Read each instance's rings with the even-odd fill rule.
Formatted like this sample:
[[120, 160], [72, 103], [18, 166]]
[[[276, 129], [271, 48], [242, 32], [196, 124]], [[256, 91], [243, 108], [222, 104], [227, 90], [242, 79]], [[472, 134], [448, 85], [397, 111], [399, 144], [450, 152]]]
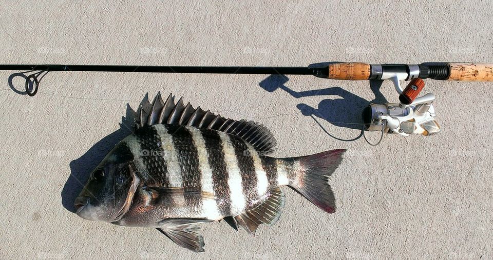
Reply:
[[289, 186], [328, 213], [335, 199], [328, 177], [345, 150], [274, 158], [271, 132], [158, 94], [137, 111], [134, 133], [94, 169], [75, 199], [92, 221], [156, 228], [176, 244], [203, 252], [198, 223], [226, 218], [254, 234], [274, 225]]

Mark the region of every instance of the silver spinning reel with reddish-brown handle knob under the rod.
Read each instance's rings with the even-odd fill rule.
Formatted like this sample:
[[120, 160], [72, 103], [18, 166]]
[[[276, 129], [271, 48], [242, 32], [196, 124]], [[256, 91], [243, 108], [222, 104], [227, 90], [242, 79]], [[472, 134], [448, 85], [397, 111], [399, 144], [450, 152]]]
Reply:
[[427, 93], [418, 97], [425, 87], [423, 79], [418, 77], [411, 79], [406, 88], [402, 89], [400, 80], [404, 79], [403, 76], [397, 74], [387, 78], [393, 81], [395, 90], [399, 93], [400, 103], [370, 104], [363, 110], [365, 129], [403, 136], [438, 133], [440, 125], [435, 120], [432, 105], [435, 96]]

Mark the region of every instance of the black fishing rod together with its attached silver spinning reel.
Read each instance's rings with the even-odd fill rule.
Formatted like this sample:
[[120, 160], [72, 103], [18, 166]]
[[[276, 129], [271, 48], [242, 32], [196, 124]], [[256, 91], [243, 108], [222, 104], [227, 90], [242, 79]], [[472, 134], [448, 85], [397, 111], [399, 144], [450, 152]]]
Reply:
[[[34, 96], [41, 79], [52, 71], [149, 72], [149, 73], [210, 73], [210, 74], [271, 74], [313, 75], [320, 78], [350, 81], [389, 80], [399, 94], [399, 103], [370, 104], [363, 111], [364, 127], [368, 131], [430, 135], [440, 131], [432, 105], [435, 96], [427, 93], [418, 97], [423, 79], [442, 81], [491, 82], [493, 64], [481, 63], [422, 63], [367, 64], [324, 63], [308, 67], [212, 67], [212, 66], [118, 66], [118, 65], [0, 65], [0, 70], [26, 70], [25, 88]], [[409, 81], [406, 87], [401, 81]]]

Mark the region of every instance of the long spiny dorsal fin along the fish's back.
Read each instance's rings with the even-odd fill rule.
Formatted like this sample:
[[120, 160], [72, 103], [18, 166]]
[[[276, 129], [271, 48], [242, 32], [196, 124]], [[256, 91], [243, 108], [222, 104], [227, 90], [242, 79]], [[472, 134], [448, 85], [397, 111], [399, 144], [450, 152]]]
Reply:
[[276, 139], [267, 127], [254, 121], [224, 118], [210, 110], [194, 108], [190, 103], [185, 105], [183, 98], [175, 104], [173, 94], [169, 94], [166, 101], [163, 101], [161, 93], [158, 93], [150, 109], [141, 105], [137, 110], [136, 129], [157, 124], [193, 126], [233, 134], [264, 153], [274, 151], [276, 146]]

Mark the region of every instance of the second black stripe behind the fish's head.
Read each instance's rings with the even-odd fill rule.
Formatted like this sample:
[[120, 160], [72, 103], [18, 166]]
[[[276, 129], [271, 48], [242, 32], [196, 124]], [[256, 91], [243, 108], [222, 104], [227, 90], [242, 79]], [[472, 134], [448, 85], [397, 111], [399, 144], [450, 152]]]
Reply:
[[[168, 133], [173, 137], [173, 146], [176, 149], [178, 163], [181, 169], [181, 179], [183, 189], [201, 190], [201, 170], [199, 163], [199, 154], [195, 146], [192, 133], [184, 126], [166, 125]], [[197, 196], [188, 196], [185, 194], [185, 203], [187, 206], [197, 209], [202, 207], [202, 200]]]

